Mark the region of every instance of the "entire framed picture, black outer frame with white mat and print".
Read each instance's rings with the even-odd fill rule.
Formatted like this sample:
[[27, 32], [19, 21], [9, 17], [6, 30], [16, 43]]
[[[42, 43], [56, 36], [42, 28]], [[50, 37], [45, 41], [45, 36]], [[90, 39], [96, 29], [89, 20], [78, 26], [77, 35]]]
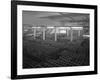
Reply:
[[[31, 20], [32, 16], [33, 18]], [[31, 22], [33, 24], [31, 24]], [[83, 29], [86, 32], [83, 32]], [[25, 32], [28, 36], [26, 36]], [[40, 34], [41, 36], [39, 37], [38, 35]], [[78, 34], [77, 39], [74, 38], [74, 35], [76, 34]], [[30, 36], [32, 37], [32, 40], [27, 43], [27, 39], [29, 40]], [[48, 37], [50, 37], [50, 40]], [[86, 41], [83, 41], [84, 38]], [[79, 44], [81, 40], [83, 42]], [[38, 45], [33, 43], [34, 41]], [[57, 47], [60, 45], [60, 43], [63, 44], [64, 41], [67, 41], [66, 44], [68, 45], [75, 45], [76, 47], [76, 45], [78, 46], [79, 44], [79, 46], [77, 48], [71, 47], [68, 49], [69, 52], [67, 52], [68, 46], [66, 48], [66, 46], [64, 46], [65, 43], [63, 46], [61, 46], [63, 48]], [[47, 52], [42, 52], [44, 43], [48, 44], [45, 48], [43, 48]], [[41, 44], [43, 44], [42, 47]], [[49, 48], [48, 46], [51, 45], [54, 47], [56, 45], [57, 46], [56, 48]], [[83, 47], [80, 48], [80, 45]], [[37, 49], [39, 49], [40, 52], [37, 51]], [[30, 54], [32, 57], [30, 55], [26, 55], [28, 51], [29, 53], [32, 53], [32, 55]], [[53, 53], [52, 55], [51, 52]], [[64, 58], [65, 54], [67, 58]], [[79, 56], [79, 58], [76, 56]], [[49, 61], [49, 59], [51, 61]], [[69, 59], [69, 61], [67, 59]], [[35, 60], [37, 62], [34, 62]], [[96, 5], [11, 1], [12, 79], [90, 74], [97, 74]]]

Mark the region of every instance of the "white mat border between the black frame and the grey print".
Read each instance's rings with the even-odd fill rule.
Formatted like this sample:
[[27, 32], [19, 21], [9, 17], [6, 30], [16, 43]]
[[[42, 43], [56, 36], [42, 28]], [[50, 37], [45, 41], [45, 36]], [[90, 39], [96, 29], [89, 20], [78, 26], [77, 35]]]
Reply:
[[[73, 12], [90, 14], [90, 66], [79, 67], [58, 67], [58, 68], [22, 68], [22, 10], [27, 11], [52, 11], [52, 12]], [[80, 72], [94, 71], [94, 10], [80, 8], [58, 8], [45, 6], [17, 6], [17, 75], [61, 73], [61, 72]]]

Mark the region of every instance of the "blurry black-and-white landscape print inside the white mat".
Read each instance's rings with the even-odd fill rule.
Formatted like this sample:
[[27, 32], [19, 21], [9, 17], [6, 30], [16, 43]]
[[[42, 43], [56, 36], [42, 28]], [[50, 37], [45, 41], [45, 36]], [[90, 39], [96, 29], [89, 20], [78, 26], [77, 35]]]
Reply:
[[88, 66], [90, 15], [23, 11], [23, 68]]

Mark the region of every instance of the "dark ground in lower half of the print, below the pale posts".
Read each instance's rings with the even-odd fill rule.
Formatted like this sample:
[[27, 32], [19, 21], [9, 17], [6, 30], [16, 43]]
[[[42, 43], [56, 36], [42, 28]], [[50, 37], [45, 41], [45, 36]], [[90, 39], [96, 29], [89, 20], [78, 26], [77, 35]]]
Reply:
[[68, 67], [89, 65], [89, 39], [23, 39], [23, 68]]

